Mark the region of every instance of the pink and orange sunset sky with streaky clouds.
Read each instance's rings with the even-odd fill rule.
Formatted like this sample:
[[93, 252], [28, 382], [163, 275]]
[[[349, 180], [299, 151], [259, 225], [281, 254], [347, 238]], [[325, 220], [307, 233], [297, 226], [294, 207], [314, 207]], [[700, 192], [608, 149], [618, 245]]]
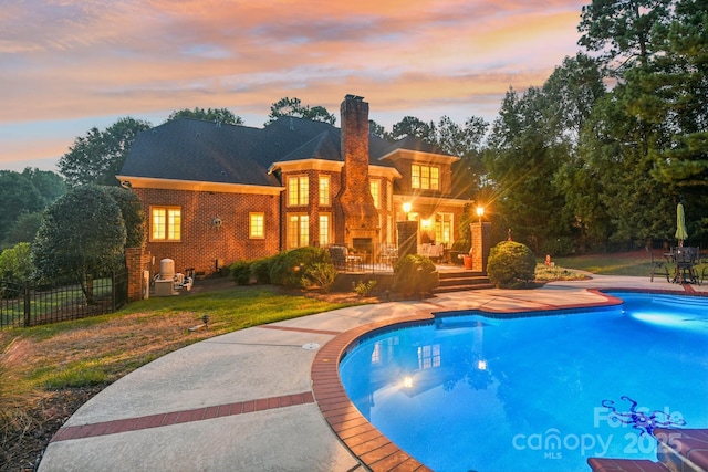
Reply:
[[119, 117], [226, 107], [262, 127], [289, 96], [337, 116], [497, 116], [574, 55], [590, 0], [24, 0], [0, 9], [0, 169], [56, 170]]

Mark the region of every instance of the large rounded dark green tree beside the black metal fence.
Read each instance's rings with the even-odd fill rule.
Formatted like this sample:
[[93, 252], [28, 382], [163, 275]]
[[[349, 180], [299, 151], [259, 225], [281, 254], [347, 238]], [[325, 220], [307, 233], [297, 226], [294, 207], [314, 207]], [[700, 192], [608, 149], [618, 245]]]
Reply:
[[41, 280], [79, 283], [93, 303], [91, 280], [121, 268], [125, 223], [115, 200], [98, 186], [81, 186], [60, 197], [44, 213], [32, 245]]

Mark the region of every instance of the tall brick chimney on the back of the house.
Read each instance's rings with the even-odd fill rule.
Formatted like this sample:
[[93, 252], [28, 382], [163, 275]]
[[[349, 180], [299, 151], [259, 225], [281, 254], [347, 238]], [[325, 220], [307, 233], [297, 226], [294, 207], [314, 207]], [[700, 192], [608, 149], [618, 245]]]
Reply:
[[378, 242], [378, 211], [368, 181], [368, 103], [346, 95], [342, 115], [343, 189], [340, 204], [344, 213], [345, 241], [357, 249]]

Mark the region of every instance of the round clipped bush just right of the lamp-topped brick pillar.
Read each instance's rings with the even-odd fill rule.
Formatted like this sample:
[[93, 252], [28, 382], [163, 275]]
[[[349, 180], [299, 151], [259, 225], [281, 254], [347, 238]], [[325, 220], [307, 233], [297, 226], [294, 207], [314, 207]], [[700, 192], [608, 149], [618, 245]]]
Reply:
[[535, 256], [524, 244], [502, 241], [489, 251], [487, 275], [500, 289], [527, 286], [534, 280]]

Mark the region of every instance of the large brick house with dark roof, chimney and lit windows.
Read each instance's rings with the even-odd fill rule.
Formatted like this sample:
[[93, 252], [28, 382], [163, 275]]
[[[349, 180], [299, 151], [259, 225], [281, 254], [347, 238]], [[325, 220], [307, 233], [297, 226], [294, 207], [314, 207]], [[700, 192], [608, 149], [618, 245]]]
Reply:
[[396, 243], [404, 220], [418, 222], [418, 242], [449, 247], [467, 203], [451, 197], [458, 158], [369, 135], [368, 103], [357, 96], [342, 102], [341, 123], [184, 118], [140, 133], [116, 178], [143, 201], [146, 251], [207, 274], [303, 245], [376, 254]]

